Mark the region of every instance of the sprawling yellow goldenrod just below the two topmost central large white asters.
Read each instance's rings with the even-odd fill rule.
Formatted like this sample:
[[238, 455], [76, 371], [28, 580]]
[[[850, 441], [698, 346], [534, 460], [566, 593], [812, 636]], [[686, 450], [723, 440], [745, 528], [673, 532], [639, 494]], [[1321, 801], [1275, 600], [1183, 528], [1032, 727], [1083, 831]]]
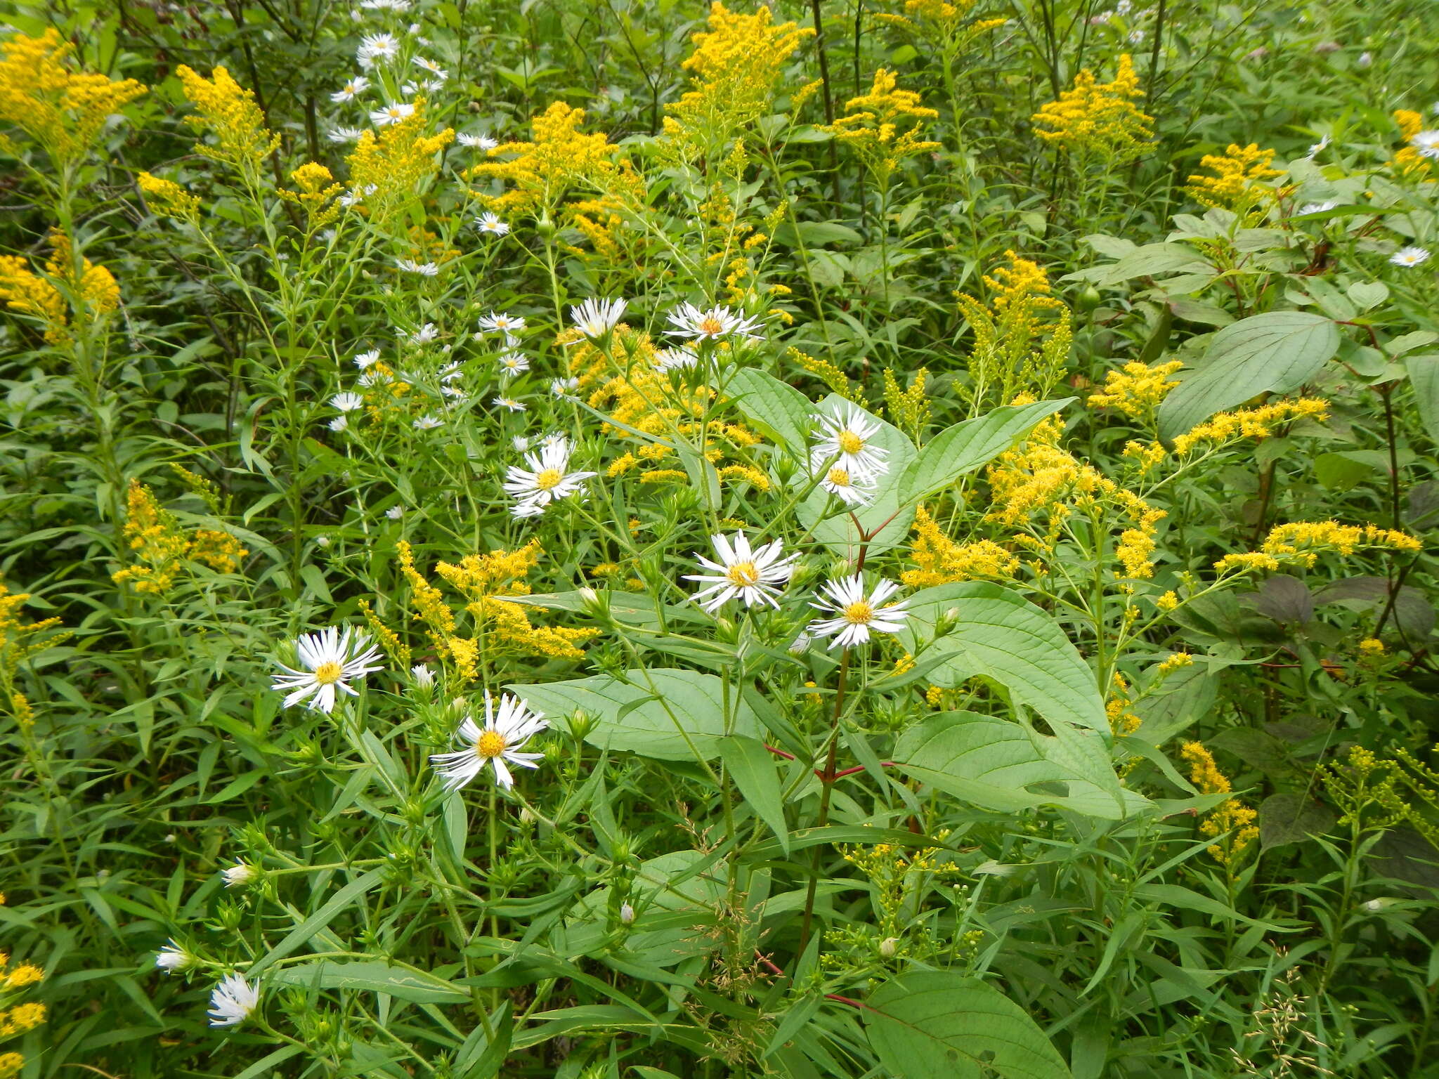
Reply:
[[[607, 475], [612, 479], [643, 468], [648, 470], [639, 473], [640, 483], [686, 483], [689, 473], [659, 465], [675, 463], [669, 439], [676, 434], [698, 439], [702, 434], [705, 445], [701, 452], [715, 466], [721, 482], [738, 481], [760, 491], [770, 489], [768, 476], [745, 462], [732, 460], [737, 450], [757, 446], [760, 437], [738, 423], [714, 417], [707, 422], [707, 411], [724, 404], [724, 399], [708, 386], [676, 387], [656, 370], [655, 345], [648, 334], [622, 324], [610, 340], [609, 352], [596, 348], [578, 331], [561, 334], [560, 341], [570, 348], [570, 374], [578, 380], [577, 393], [591, 409], [604, 411], [616, 422], [603, 430], [640, 443], [610, 463]], [[663, 442], [643, 439], [635, 432]]]

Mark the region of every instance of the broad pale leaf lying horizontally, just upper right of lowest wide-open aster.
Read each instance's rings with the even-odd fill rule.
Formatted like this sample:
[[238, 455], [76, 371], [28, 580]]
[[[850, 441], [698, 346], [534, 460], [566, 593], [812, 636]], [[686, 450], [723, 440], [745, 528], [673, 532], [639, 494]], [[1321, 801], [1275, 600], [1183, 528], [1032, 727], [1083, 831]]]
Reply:
[[508, 689], [551, 721], [576, 709], [596, 716], [599, 722], [584, 739], [600, 750], [662, 761], [688, 761], [695, 754], [712, 760], [727, 734], [760, 738], [760, 721], [737, 691], [731, 692], [734, 729], [725, 729], [724, 683], [698, 670], [637, 669], [626, 672], [625, 680], [594, 675]]

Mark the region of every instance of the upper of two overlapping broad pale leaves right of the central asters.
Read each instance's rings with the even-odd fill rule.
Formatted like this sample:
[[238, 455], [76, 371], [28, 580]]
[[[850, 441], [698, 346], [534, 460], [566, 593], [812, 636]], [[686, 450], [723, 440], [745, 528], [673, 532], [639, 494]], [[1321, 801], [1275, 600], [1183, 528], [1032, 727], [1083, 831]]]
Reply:
[[1104, 701], [1094, 672], [1059, 624], [1017, 593], [984, 581], [940, 584], [909, 597], [909, 619], [901, 640], [932, 636], [935, 623], [950, 616], [954, 627], [931, 647], [953, 653], [930, 672], [940, 686], [954, 686], [974, 675], [1004, 685], [1050, 722], [1088, 727], [1109, 734]]

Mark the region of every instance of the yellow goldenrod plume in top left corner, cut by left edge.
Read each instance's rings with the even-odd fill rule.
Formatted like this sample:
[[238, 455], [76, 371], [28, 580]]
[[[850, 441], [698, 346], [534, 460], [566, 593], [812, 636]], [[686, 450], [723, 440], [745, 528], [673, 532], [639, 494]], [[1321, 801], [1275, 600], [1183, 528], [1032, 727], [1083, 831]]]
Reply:
[[[12, 35], [0, 45], [0, 122], [17, 127], [62, 168], [85, 154], [105, 121], [145, 92], [134, 79], [75, 70], [75, 46], [49, 29]], [[16, 145], [0, 135], [0, 150]]]

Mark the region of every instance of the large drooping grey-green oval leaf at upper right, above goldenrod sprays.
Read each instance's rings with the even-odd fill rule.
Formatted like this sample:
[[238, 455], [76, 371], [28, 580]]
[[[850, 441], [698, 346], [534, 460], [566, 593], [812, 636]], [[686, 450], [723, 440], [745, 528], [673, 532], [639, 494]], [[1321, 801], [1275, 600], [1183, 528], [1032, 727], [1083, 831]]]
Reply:
[[1160, 434], [1173, 439], [1261, 393], [1291, 393], [1338, 351], [1338, 327], [1308, 311], [1269, 311], [1220, 329], [1203, 367], [1160, 406]]

